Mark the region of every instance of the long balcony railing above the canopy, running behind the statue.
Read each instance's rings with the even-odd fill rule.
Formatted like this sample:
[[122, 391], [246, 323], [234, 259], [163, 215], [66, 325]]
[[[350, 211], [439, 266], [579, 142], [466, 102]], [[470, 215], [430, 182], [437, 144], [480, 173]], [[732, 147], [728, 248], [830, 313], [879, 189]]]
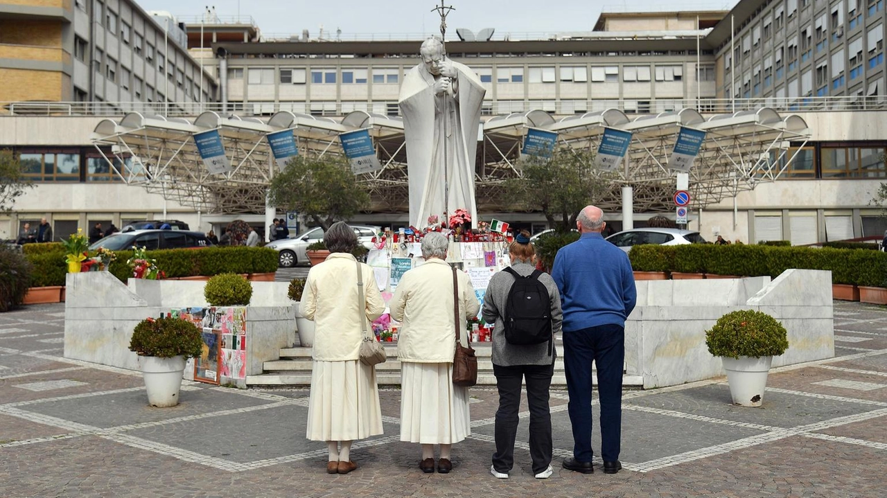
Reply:
[[[306, 102], [0, 102], [0, 115], [16, 116], [121, 116], [125, 113], [160, 114], [168, 117], [196, 116], [205, 111], [235, 113], [244, 116], [270, 116], [279, 111], [341, 116], [352, 111], [389, 114], [396, 102], [315, 103], [323, 108], [311, 110]], [[344, 106], [343, 106], [344, 105]], [[833, 96], [793, 98], [645, 99], [645, 100], [508, 100], [484, 102], [484, 115], [519, 113], [541, 109], [553, 115], [593, 113], [620, 109], [629, 115], [657, 114], [679, 109], [696, 109], [703, 114], [734, 113], [770, 107], [781, 113], [887, 110], [887, 96]]]

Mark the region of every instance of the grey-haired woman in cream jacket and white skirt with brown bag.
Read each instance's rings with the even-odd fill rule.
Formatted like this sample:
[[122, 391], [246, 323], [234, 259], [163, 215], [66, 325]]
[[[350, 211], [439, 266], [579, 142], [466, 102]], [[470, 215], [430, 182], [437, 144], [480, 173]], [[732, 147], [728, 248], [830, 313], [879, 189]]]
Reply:
[[[468, 388], [452, 384], [456, 327], [467, 346], [465, 321], [480, 303], [468, 276], [447, 264], [449, 241], [431, 232], [422, 238], [425, 264], [412, 268], [397, 284], [391, 318], [400, 322], [397, 359], [401, 364], [400, 440], [420, 443], [419, 468], [435, 471], [434, 445], [440, 445], [437, 471], [451, 471], [451, 447], [471, 434]], [[454, 313], [458, 303], [458, 318]]]

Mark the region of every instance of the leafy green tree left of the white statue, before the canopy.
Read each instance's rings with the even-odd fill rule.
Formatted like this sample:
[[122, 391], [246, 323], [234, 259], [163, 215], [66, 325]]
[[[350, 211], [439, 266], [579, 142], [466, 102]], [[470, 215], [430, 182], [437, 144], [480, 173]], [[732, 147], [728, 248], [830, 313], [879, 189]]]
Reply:
[[341, 156], [296, 156], [274, 176], [269, 191], [271, 205], [298, 211], [312, 222], [330, 228], [370, 204], [370, 195]]

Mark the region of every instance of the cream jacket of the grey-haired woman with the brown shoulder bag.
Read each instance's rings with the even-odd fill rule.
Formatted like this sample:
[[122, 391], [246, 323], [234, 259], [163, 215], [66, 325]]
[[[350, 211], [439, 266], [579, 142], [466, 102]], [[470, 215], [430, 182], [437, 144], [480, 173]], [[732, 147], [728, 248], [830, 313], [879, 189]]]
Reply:
[[[459, 335], [467, 345], [465, 320], [477, 315], [480, 303], [465, 272], [459, 281]], [[432, 258], [404, 274], [389, 303], [391, 318], [401, 323], [397, 359], [401, 362], [451, 363], [456, 349], [453, 324], [452, 270]]]

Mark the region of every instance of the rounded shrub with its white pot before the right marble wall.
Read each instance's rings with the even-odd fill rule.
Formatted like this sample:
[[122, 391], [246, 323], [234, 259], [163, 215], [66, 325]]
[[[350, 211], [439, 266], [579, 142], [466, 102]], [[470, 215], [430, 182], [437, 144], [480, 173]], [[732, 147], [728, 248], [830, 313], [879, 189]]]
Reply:
[[705, 345], [724, 362], [734, 404], [759, 407], [773, 356], [785, 353], [789, 339], [785, 327], [773, 316], [742, 309], [718, 318], [705, 331]]

